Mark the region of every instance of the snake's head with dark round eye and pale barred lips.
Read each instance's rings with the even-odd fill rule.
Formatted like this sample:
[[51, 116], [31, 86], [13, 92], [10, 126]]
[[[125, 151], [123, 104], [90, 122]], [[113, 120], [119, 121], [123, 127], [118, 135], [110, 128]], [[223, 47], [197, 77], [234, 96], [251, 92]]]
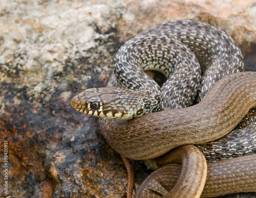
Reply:
[[[112, 119], [132, 119], [145, 109], [145, 93], [120, 87], [91, 88], [75, 95], [71, 105], [79, 112]], [[150, 108], [150, 107], [148, 107]]]

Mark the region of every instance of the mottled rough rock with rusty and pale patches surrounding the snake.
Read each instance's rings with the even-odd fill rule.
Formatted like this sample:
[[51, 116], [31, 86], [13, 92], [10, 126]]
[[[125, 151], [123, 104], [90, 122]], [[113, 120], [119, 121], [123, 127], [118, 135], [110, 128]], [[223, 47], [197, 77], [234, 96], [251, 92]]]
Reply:
[[[76, 112], [70, 100], [106, 84], [125, 40], [172, 19], [226, 31], [246, 70], [256, 70], [252, 0], [1, 0], [0, 193], [6, 140], [11, 197], [125, 197], [120, 157], [98, 132], [97, 118]], [[134, 165], [140, 183], [150, 170]]]

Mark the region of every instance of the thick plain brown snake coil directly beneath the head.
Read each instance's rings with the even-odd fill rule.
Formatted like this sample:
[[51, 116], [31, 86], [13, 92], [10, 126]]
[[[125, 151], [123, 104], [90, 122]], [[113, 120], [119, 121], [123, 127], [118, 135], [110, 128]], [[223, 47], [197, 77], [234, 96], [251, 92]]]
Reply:
[[233, 73], [197, 105], [129, 121], [108, 120], [103, 135], [118, 153], [137, 160], [158, 157], [180, 145], [209, 142], [229, 133], [255, 107], [255, 88], [255, 72]]

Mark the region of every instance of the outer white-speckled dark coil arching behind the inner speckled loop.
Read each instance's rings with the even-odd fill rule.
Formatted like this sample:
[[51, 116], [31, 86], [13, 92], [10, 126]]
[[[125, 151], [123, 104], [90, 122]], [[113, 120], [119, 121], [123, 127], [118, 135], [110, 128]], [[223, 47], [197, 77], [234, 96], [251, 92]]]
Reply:
[[151, 33], [177, 39], [196, 55], [202, 69], [198, 101], [215, 82], [229, 73], [243, 71], [243, 55], [237, 44], [225, 32], [210, 24], [172, 20], [157, 24], [141, 34]]

